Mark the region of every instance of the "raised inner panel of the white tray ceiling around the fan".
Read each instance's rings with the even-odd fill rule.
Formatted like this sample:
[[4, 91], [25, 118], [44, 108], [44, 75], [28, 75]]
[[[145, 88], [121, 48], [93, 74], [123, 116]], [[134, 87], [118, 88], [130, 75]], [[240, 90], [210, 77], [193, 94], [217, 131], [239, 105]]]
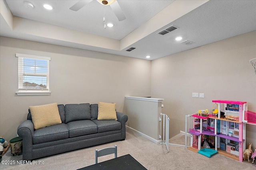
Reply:
[[[173, 0], [119, 0], [118, 4], [122, 7], [126, 20], [118, 21], [110, 6], [101, 5], [96, 0], [86, 4], [78, 11], [69, 9], [78, 0], [28, 0], [34, 5], [34, 9], [25, 8], [24, 1], [6, 0], [14, 16], [118, 40], [124, 38], [173, 2]], [[54, 10], [48, 11], [42, 8], [44, 3], [54, 6]], [[104, 29], [104, 8], [106, 22], [115, 24], [111, 29]]]

